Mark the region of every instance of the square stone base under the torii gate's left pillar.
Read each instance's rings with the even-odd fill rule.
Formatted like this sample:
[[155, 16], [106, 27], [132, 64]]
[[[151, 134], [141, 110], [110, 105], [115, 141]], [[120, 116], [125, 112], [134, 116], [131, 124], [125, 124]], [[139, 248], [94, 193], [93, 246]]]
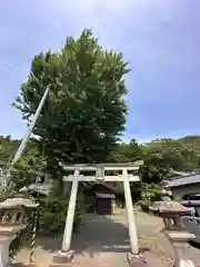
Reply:
[[69, 264], [74, 258], [74, 250], [69, 250], [67, 253], [58, 251], [53, 256], [52, 264], [49, 265], [49, 267], [68, 267]]

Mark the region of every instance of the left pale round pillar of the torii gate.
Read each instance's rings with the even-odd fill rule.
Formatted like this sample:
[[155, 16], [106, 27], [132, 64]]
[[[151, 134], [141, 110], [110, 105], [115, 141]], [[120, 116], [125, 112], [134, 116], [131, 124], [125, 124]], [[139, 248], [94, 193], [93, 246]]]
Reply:
[[74, 179], [72, 181], [71, 195], [70, 195], [69, 207], [68, 207], [68, 216], [66, 219], [66, 228], [64, 228], [63, 240], [62, 240], [62, 250], [61, 250], [62, 253], [69, 251], [71, 246], [71, 236], [72, 236], [73, 219], [74, 219], [74, 211], [76, 211], [76, 204], [77, 204], [78, 186], [79, 186], [79, 170], [74, 170]]

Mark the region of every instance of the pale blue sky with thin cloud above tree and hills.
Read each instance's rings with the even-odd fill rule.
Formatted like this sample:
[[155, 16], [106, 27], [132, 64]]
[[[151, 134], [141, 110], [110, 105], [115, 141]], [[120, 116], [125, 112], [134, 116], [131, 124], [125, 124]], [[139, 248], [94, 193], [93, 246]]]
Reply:
[[0, 0], [0, 135], [24, 135], [11, 102], [33, 56], [87, 27], [130, 62], [126, 140], [200, 134], [199, 10], [199, 0]]

